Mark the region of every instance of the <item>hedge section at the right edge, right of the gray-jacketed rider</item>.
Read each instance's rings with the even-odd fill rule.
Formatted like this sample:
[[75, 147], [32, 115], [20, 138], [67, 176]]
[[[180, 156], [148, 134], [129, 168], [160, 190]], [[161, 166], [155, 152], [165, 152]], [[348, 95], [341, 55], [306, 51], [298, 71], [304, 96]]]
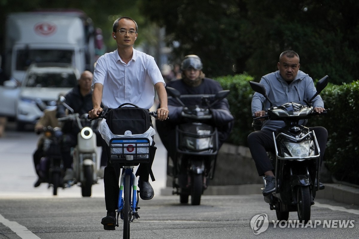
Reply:
[[337, 180], [359, 185], [359, 81], [328, 85], [321, 96], [330, 111], [311, 124], [328, 130], [326, 165]]

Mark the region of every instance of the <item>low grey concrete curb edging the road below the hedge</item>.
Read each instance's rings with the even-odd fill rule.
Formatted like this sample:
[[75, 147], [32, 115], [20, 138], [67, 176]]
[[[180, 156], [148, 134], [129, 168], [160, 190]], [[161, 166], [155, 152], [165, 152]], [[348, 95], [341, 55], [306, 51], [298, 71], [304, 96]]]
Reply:
[[[248, 195], [262, 194], [263, 184], [208, 186], [204, 195]], [[162, 196], [172, 195], [172, 188], [161, 189]], [[359, 188], [337, 183], [326, 183], [325, 189], [317, 191], [317, 199], [331, 199], [337, 202], [359, 205]]]

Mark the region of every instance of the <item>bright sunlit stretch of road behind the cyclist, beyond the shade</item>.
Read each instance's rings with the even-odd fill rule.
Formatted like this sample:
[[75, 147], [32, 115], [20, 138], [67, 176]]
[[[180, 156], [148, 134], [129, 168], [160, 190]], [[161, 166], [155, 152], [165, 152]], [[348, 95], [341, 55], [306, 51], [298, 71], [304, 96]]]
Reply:
[[[8, 123], [5, 137], [0, 138], [0, 197], [51, 197], [52, 190], [46, 183], [34, 188], [33, 184], [37, 180], [34, 171], [32, 153], [36, 149], [39, 135], [34, 132], [17, 132], [14, 130], [13, 122]], [[152, 166], [156, 181], [151, 182], [155, 190], [155, 195], [159, 195], [165, 187], [166, 172], [166, 151], [155, 135], [157, 147], [156, 158]], [[98, 148], [100, 154], [101, 148]], [[100, 155], [98, 156], [99, 162]], [[103, 180], [98, 180], [98, 184], [92, 187], [92, 195], [104, 197]], [[58, 197], [81, 197], [81, 188], [73, 186], [59, 190]]]

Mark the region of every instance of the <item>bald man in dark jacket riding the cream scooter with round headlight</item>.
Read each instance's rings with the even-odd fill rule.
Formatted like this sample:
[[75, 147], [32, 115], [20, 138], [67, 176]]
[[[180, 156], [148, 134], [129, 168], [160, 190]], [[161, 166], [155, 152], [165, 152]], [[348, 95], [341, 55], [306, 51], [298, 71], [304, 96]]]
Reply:
[[[92, 110], [92, 84], [93, 74], [90, 71], [84, 71], [81, 73], [80, 79], [78, 80], [78, 85], [76, 85], [73, 89], [71, 89], [65, 95], [65, 103], [69, 105], [74, 113], [87, 114], [90, 110]], [[66, 116], [66, 107], [62, 104], [57, 106], [57, 118], [62, 118]], [[77, 135], [81, 129], [74, 124], [73, 121], [65, 122], [62, 125], [62, 132], [64, 133], [63, 139], [61, 142], [61, 154], [64, 161], [64, 169], [66, 170], [64, 181], [73, 180], [73, 170], [72, 170], [72, 162], [73, 157], [71, 157], [71, 147], [75, 147], [77, 144]], [[97, 146], [103, 146], [104, 140], [99, 134], [97, 129], [93, 129], [94, 133], [96, 133]], [[107, 165], [107, 156], [106, 152], [102, 150], [101, 154], [101, 166]], [[101, 173], [99, 173], [99, 176]]]

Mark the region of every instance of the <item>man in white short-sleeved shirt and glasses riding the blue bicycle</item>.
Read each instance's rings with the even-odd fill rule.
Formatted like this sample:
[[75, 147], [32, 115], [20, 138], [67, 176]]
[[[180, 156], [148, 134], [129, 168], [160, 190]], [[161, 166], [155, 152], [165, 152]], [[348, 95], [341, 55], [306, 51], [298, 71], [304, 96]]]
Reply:
[[[93, 110], [89, 111], [91, 118], [97, 117], [103, 111], [101, 103], [109, 109], [117, 108], [124, 103], [150, 109], [154, 102], [155, 88], [161, 105], [157, 110], [157, 119], [167, 119], [167, 93], [161, 72], [153, 57], [133, 48], [137, 39], [137, 28], [137, 23], [127, 16], [118, 18], [113, 23], [112, 37], [116, 40], [117, 49], [97, 60], [92, 83]], [[152, 126], [152, 123], [150, 125]], [[108, 145], [106, 148], [109, 155]], [[136, 176], [139, 176], [140, 197], [143, 200], [152, 199], [154, 196], [149, 183], [149, 172], [155, 150], [153, 142], [150, 148], [150, 162], [140, 164], [136, 172]], [[108, 162], [103, 178], [107, 210], [106, 217], [101, 221], [103, 225], [116, 223], [119, 176], [118, 164]]]

